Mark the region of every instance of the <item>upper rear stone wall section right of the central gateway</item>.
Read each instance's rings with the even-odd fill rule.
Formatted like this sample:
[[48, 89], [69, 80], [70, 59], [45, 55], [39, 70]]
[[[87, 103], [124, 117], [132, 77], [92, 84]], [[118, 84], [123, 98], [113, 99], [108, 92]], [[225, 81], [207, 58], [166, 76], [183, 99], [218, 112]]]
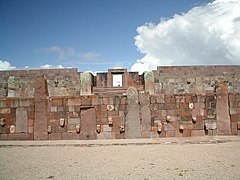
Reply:
[[240, 66], [161, 66], [154, 73], [155, 93], [214, 93], [228, 82], [229, 92], [240, 91]]

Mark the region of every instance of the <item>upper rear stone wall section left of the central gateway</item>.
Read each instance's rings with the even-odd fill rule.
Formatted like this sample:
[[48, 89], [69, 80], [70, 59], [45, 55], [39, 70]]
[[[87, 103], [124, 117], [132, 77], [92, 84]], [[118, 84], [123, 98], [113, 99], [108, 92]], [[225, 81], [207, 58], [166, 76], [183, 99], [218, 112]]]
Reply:
[[51, 96], [80, 94], [80, 73], [76, 68], [0, 71], [0, 97], [33, 97], [36, 78], [47, 78]]

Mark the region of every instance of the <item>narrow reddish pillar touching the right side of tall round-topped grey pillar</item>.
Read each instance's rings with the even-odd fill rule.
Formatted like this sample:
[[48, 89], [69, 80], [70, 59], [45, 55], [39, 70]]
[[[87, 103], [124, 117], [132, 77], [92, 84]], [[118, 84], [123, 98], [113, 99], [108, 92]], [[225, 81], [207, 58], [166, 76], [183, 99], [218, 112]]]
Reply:
[[139, 94], [142, 115], [142, 131], [151, 131], [150, 98], [148, 93]]

